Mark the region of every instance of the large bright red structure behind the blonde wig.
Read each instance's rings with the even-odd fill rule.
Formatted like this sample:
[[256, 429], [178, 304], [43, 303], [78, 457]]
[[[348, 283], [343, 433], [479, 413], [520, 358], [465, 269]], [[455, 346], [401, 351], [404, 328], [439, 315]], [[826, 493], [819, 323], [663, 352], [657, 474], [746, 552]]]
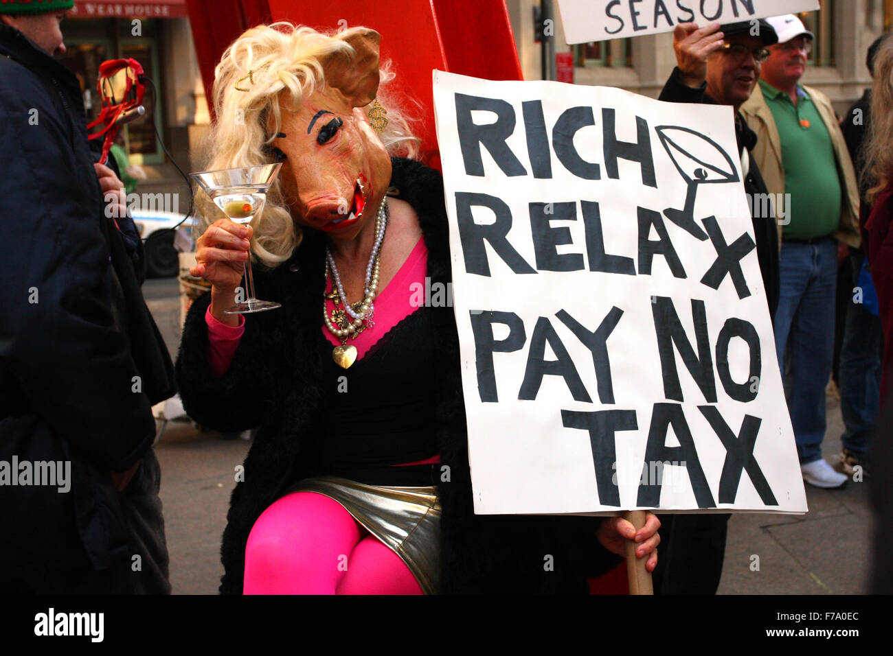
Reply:
[[[108, 1], [108, 0], [107, 0]], [[504, 0], [388, 0], [387, 12], [368, 0], [338, 4], [294, 0], [187, 0], [196, 55], [207, 97], [223, 50], [259, 22], [292, 21], [321, 29], [366, 25], [381, 34], [381, 61], [396, 64], [396, 95], [421, 104], [415, 132], [421, 159], [440, 168], [434, 130], [431, 70], [484, 79], [522, 79], [521, 64]], [[462, 20], [456, 20], [462, 16]], [[486, 38], [480, 35], [486, 34]], [[399, 98], [405, 102], [405, 98]], [[213, 106], [211, 112], [213, 112]]]

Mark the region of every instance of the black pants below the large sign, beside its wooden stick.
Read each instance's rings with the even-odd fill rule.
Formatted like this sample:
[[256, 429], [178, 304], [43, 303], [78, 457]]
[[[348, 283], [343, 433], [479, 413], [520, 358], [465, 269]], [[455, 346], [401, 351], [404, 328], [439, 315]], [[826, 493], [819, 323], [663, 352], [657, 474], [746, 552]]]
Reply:
[[655, 594], [716, 594], [731, 515], [658, 515]]

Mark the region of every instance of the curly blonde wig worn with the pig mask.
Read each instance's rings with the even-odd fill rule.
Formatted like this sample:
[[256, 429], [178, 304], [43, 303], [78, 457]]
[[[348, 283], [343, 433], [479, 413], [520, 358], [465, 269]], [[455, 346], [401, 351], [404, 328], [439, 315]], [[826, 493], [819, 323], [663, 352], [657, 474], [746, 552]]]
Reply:
[[[305, 95], [325, 85], [323, 64], [331, 56], [352, 62], [355, 50], [346, 38], [368, 28], [319, 32], [288, 22], [260, 25], [238, 37], [214, 70], [215, 122], [206, 142], [205, 170], [256, 166], [273, 161], [266, 150], [280, 131], [281, 112], [295, 111]], [[389, 62], [380, 67], [379, 103], [388, 111], [388, 126], [379, 135], [390, 155], [416, 158], [419, 139], [411, 119], [388, 95], [395, 78]], [[238, 88], [237, 88], [238, 87]], [[240, 90], [245, 89], [245, 90]], [[418, 104], [416, 104], [418, 107]], [[371, 105], [364, 108], [367, 112]], [[204, 194], [196, 192], [201, 229], [221, 218], [221, 212]], [[296, 225], [283, 202], [279, 182], [274, 183], [260, 214], [252, 221], [255, 259], [273, 268], [288, 260], [301, 242]]]

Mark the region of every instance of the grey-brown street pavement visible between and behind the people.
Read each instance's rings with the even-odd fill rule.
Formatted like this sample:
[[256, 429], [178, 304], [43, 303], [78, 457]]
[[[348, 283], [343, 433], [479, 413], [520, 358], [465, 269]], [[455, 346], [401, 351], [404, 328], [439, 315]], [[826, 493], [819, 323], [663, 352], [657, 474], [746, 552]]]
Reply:
[[[176, 278], [143, 286], [171, 355], [179, 345]], [[822, 448], [839, 461], [843, 420], [828, 399]], [[220, 539], [235, 468], [250, 442], [171, 422], [155, 450], [162, 465], [161, 497], [174, 594], [216, 594], [222, 574]], [[837, 490], [806, 485], [805, 515], [735, 514], [730, 519], [719, 594], [864, 594], [871, 566], [872, 511], [866, 482]], [[758, 568], [758, 569], [757, 569]]]

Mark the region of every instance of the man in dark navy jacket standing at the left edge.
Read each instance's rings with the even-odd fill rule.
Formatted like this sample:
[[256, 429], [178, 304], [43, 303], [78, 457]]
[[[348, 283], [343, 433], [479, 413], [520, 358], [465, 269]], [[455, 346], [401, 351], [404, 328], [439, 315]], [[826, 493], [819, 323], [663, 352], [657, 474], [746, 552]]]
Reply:
[[121, 180], [52, 56], [72, 4], [0, 5], [0, 591], [169, 593], [151, 406], [173, 367]]

